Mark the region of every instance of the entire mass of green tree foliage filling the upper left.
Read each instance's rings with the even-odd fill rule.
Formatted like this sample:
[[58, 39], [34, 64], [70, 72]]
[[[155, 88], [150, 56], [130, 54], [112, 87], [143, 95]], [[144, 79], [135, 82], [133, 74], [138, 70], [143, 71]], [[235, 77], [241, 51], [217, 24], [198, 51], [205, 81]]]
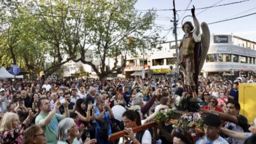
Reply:
[[[100, 78], [113, 71], [120, 73], [128, 54], [142, 54], [156, 47], [160, 39], [158, 29], [152, 28], [156, 13], [137, 12], [136, 2], [1, 1], [0, 64], [16, 63], [48, 76], [74, 60], [91, 65]], [[89, 48], [93, 49], [92, 57], [100, 61], [100, 70], [87, 61]], [[105, 69], [106, 58], [116, 61], [113, 69]], [[117, 67], [120, 58], [123, 63]]]

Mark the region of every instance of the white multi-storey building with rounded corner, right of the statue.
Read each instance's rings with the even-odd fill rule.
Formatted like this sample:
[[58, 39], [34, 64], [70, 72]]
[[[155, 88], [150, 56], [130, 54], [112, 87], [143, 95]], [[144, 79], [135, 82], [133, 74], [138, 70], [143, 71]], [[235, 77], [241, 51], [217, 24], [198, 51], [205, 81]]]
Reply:
[[211, 35], [203, 76], [249, 77], [256, 70], [256, 43], [234, 35]]

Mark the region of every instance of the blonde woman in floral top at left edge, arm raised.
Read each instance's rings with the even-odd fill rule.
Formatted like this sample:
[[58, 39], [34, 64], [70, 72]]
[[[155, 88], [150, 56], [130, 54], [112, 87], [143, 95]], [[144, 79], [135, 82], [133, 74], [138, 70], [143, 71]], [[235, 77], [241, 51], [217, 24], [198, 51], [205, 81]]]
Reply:
[[22, 132], [24, 132], [26, 126], [30, 124], [32, 117], [32, 111], [30, 111], [26, 120], [20, 123], [19, 117], [16, 113], [5, 113], [0, 124], [0, 143], [21, 144]]

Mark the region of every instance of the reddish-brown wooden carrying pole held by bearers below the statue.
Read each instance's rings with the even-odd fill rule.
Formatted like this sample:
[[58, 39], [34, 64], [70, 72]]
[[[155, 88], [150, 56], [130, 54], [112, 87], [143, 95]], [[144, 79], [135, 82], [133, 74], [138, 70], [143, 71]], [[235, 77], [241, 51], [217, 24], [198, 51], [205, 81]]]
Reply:
[[[139, 132], [141, 130], [146, 130], [148, 128], [151, 128], [153, 126], [156, 126], [158, 124], [158, 122], [149, 122], [147, 124], [144, 124], [142, 126], [137, 126], [135, 128], [133, 128], [133, 132]], [[123, 137], [125, 135], [125, 131], [120, 131], [120, 132], [116, 132], [114, 134], [111, 134], [110, 137], [108, 137], [108, 139], [110, 140], [110, 142], [114, 143], [116, 141], [116, 139], [119, 139], [120, 137]]]

